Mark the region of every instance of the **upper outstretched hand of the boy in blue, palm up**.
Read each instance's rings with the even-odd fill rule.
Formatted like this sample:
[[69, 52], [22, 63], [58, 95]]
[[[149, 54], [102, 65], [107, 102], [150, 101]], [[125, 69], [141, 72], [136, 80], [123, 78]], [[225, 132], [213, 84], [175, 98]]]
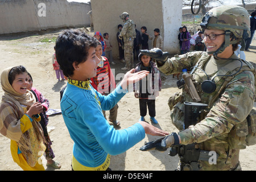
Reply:
[[121, 86], [123, 89], [126, 89], [129, 84], [134, 84], [135, 82], [141, 80], [142, 78], [146, 77], [148, 75], [148, 71], [140, 71], [135, 72], [135, 69], [131, 69], [128, 71], [125, 76], [123, 77], [123, 80], [121, 81]]

